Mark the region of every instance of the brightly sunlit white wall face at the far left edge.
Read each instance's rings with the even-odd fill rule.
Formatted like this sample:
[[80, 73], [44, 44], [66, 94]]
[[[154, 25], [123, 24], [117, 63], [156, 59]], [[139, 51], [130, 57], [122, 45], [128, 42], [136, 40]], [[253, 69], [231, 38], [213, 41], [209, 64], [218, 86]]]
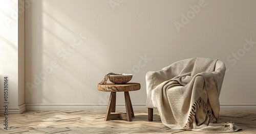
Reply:
[[15, 95], [10, 94], [18, 86], [18, 16], [21, 13], [15, 11], [17, 7], [12, 1], [2, 1], [0, 5], [0, 103], [1, 110], [5, 108], [7, 115], [8, 106], [13, 106], [16, 102]]

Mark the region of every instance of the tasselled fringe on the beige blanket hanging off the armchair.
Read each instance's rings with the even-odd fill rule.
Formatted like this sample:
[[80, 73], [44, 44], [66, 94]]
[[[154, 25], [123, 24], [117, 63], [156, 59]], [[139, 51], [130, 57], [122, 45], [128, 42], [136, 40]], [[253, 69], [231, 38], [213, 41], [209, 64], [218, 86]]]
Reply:
[[196, 119], [195, 116], [196, 116], [196, 112], [197, 112], [197, 109], [198, 109], [199, 106], [202, 106], [203, 107], [203, 111], [207, 112], [206, 116], [209, 117], [209, 121], [211, 121], [212, 123], [218, 123], [219, 122], [219, 118], [215, 118], [214, 117], [214, 115], [211, 113], [211, 111], [208, 110], [206, 103], [200, 97], [191, 106], [191, 111], [189, 113], [189, 116], [188, 116], [188, 119], [187, 119], [187, 123], [184, 126], [185, 129], [191, 129], [190, 123], [192, 123], [193, 120]]

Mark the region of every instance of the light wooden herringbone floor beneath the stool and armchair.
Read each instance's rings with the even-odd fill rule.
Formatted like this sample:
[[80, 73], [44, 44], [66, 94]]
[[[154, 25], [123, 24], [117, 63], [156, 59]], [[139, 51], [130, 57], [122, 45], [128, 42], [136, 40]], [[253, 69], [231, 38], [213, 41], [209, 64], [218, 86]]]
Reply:
[[[8, 115], [8, 130], [1, 115], [0, 133], [204, 133], [169, 129], [161, 123], [158, 112], [153, 122], [147, 121], [146, 110], [134, 112], [135, 118], [128, 122], [104, 121], [105, 111], [30, 111]], [[221, 111], [220, 121], [232, 121], [243, 128], [234, 133], [256, 133], [256, 111]]]

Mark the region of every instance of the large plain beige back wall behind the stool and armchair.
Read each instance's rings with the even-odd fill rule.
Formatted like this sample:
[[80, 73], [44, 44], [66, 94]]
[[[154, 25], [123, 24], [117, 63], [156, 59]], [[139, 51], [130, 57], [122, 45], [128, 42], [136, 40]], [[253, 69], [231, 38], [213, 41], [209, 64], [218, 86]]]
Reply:
[[[255, 5], [242, 0], [33, 1], [25, 13], [26, 103], [105, 105], [109, 93], [97, 91], [97, 83], [108, 72], [129, 72], [141, 84], [131, 92], [133, 105], [143, 106], [147, 71], [208, 57], [228, 69], [221, 104], [255, 109]], [[124, 103], [123, 94], [117, 103]]]

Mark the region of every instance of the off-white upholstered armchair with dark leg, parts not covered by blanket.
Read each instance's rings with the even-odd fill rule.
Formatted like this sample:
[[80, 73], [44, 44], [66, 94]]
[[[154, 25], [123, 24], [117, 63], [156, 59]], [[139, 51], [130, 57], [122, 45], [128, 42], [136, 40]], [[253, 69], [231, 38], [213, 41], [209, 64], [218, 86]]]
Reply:
[[[192, 59], [192, 58], [191, 58]], [[175, 62], [159, 71], [149, 71], [146, 73], [146, 106], [148, 108], [148, 121], [153, 121], [153, 109], [157, 108], [156, 103], [153, 99], [153, 90], [161, 83], [178, 76], [185, 65], [191, 60], [186, 59], [182, 61]], [[218, 82], [218, 95], [220, 96], [221, 87], [223, 83], [223, 78], [225, 75], [226, 67], [225, 64], [218, 60], [215, 65], [215, 70], [213, 73], [218, 72], [220, 74], [220, 81]], [[156, 78], [157, 77], [157, 78]]]

